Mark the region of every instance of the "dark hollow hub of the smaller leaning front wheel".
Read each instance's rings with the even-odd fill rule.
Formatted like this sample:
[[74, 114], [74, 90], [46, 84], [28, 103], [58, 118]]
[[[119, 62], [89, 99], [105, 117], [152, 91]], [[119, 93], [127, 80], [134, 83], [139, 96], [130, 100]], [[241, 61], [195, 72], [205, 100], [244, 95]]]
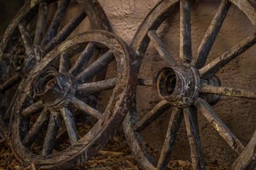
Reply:
[[68, 105], [75, 96], [76, 84], [70, 74], [57, 72], [56, 69], [45, 69], [36, 78], [33, 90], [40, 96], [46, 108], [59, 111]]

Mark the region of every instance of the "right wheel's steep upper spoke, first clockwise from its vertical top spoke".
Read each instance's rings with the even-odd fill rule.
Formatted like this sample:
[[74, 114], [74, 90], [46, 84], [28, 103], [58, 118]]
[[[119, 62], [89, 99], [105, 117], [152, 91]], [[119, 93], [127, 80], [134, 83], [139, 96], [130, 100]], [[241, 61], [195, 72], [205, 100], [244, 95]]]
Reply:
[[206, 64], [210, 49], [213, 46], [215, 38], [220, 31], [225, 17], [227, 16], [230, 5], [230, 1], [225, 0], [223, 0], [220, 4], [220, 7], [214, 16], [213, 21], [210, 23], [206, 35], [204, 36], [201, 45], [199, 46], [198, 51], [196, 52], [196, 55], [193, 59], [193, 64], [196, 68], [201, 69]]

